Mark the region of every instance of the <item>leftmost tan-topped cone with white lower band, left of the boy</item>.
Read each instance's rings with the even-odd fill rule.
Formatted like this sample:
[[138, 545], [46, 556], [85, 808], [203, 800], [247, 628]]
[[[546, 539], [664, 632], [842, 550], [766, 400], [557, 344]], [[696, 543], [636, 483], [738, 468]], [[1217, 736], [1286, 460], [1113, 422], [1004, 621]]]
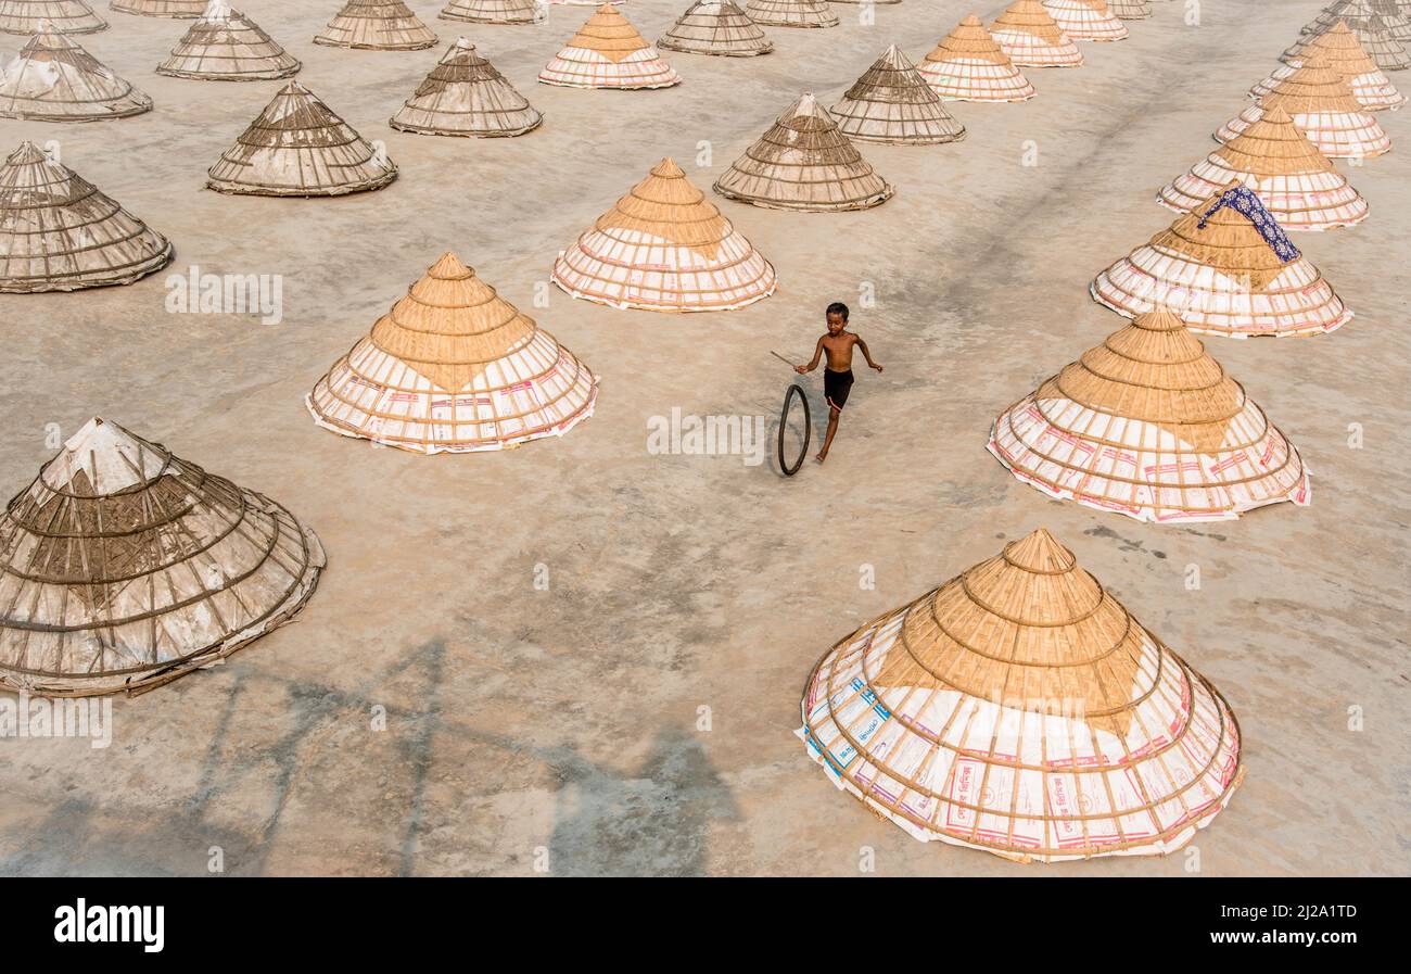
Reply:
[[308, 397], [315, 422], [415, 453], [502, 450], [593, 415], [597, 378], [443, 255]]

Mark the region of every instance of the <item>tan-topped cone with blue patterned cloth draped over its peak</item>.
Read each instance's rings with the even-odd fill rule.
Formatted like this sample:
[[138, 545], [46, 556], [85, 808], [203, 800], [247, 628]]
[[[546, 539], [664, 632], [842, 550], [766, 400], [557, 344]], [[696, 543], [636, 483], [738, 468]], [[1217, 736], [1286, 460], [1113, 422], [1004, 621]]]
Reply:
[[1089, 291], [1127, 318], [1167, 309], [1194, 332], [1235, 339], [1321, 335], [1352, 320], [1318, 268], [1240, 184], [1102, 271]]

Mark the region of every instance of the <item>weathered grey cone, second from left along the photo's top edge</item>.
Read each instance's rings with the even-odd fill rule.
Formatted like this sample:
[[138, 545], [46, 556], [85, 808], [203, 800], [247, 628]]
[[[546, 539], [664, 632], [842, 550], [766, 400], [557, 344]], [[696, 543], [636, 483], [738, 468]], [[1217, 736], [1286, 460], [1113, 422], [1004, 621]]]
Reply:
[[272, 80], [299, 71], [299, 61], [227, 0], [210, 0], [158, 75], [198, 80]]

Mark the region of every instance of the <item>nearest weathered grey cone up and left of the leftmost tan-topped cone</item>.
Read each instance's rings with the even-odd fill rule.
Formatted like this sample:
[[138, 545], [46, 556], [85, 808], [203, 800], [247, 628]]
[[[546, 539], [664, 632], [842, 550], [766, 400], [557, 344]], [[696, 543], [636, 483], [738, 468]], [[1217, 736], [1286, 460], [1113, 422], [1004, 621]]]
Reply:
[[210, 167], [206, 185], [255, 196], [340, 196], [381, 189], [396, 165], [299, 82], [274, 96]]

